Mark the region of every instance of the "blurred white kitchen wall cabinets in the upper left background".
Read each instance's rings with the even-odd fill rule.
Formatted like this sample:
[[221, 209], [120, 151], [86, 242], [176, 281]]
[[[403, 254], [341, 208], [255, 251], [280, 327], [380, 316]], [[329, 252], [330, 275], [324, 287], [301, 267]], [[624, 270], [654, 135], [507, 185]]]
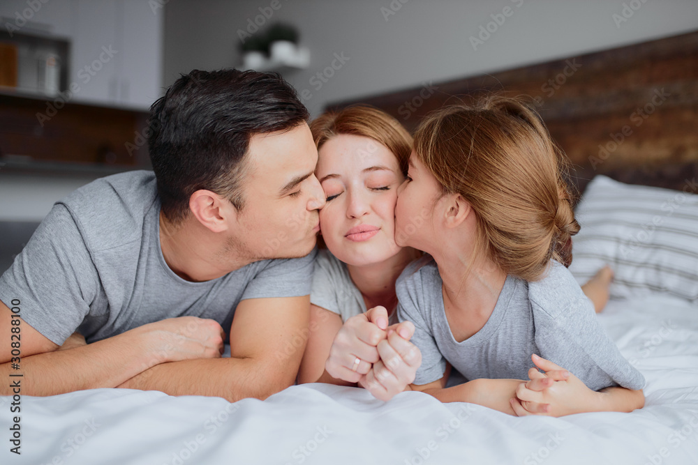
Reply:
[[[165, 12], [156, 4], [158, 8], [144, 0], [2, 0], [0, 16], [5, 29], [7, 24], [17, 28], [10, 31], [70, 42], [68, 62], [59, 63], [67, 67], [60, 90], [70, 102], [147, 110], [162, 85]], [[18, 47], [20, 59], [36, 61], [36, 50], [21, 43]], [[35, 82], [36, 72], [30, 71], [34, 75], [27, 80]]]

